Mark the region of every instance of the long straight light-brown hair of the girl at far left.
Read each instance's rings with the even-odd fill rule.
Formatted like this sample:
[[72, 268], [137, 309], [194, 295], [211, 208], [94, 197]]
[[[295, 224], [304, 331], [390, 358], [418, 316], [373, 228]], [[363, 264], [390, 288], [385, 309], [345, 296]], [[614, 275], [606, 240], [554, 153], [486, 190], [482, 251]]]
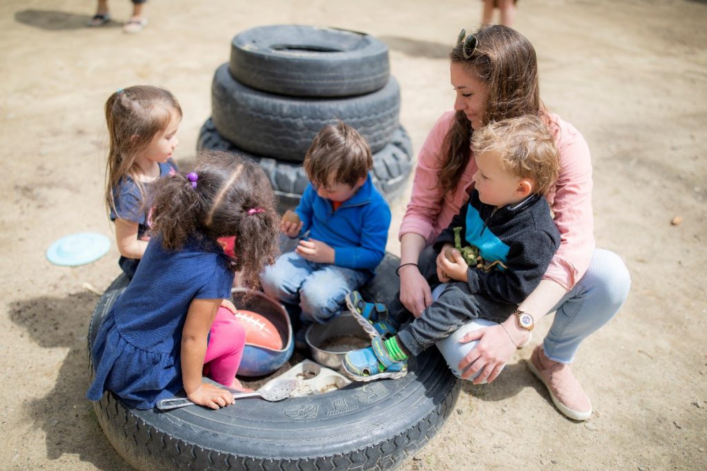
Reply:
[[170, 91], [151, 85], [136, 85], [119, 90], [105, 102], [109, 149], [105, 165], [105, 205], [115, 211], [113, 190], [126, 177], [132, 178], [142, 200], [145, 187], [138, 178], [136, 158], [154, 137], [164, 132], [172, 115], [182, 118], [182, 108]]

